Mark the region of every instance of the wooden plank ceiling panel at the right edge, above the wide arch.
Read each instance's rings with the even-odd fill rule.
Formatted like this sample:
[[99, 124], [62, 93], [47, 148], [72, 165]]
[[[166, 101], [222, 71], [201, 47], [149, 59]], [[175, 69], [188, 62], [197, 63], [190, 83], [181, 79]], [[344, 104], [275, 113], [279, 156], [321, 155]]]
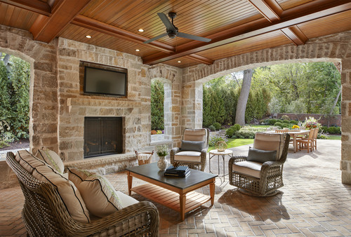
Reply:
[[298, 25], [308, 39], [351, 30], [351, 11]]

